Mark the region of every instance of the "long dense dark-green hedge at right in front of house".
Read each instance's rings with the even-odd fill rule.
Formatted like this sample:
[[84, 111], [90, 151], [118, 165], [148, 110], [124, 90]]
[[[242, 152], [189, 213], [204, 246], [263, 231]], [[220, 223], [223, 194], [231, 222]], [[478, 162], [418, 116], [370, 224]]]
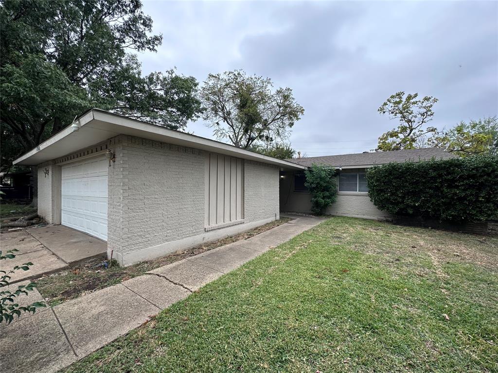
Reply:
[[498, 156], [389, 163], [369, 169], [367, 183], [375, 206], [392, 215], [498, 218]]

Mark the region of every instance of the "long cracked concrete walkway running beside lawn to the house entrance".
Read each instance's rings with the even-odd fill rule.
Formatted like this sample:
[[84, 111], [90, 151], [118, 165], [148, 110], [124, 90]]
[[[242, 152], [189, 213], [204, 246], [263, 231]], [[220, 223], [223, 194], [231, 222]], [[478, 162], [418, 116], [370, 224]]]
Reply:
[[[157, 268], [89, 295], [0, 326], [0, 369], [57, 372], [126, 334], [201, 286], [288, 241], [324, 219], [294, 220], [203, 254]], [[28, 297], [26, 297], [28, 298]], [[42, 300], [37, 291], [24, 303]]]

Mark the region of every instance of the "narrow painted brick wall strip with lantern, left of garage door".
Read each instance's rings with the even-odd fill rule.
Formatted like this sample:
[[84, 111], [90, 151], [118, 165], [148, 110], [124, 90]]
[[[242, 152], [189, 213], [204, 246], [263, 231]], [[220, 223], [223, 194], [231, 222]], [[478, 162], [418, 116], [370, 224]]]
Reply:
[[[45, 175], [44, 170], [48, 170]], [[61, 168], [54, 161], [38, 165], [38, 215], [48, 223], [61, 222]]]

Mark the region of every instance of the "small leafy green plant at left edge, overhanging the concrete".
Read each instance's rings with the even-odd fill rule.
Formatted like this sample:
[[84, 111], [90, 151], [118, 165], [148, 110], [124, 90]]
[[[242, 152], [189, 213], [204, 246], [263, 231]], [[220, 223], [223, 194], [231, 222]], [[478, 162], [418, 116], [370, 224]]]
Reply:
[[[2, 255], [2, 252], [0, 251], [0, 260], [7, 260], [7, 259], [14, 259], [15, 255], [12, 254], [13, 252], [16, 252], [18, 250], [12, 249], [7, 251], [5, 255]], [[6, 271], [0, 271], [2, 274], [0, 276], [0, 289], [1, 288], [6, 288], [7, 286], [10, 285], [10, 275], [15, 273], [15, 271], [22, 270], [22, 271], [28, 271], [29, 266], [32, 266], [33, 263], [28, 262], [28, 263], [23, 263], [20, 266], [15, 266], [12, 270], [9, 272]], [[29, 312], [29, 313], [35, 313], [36, 309], [39, 307], [46, 307], [47, 305], [44, 302], [34, 302], [32, 304], [29, 304], [27, 306], [19, 306], [19, 304], [16, 302], [16, 298], [21, 295], [21, 294], [28, 294], [28, 291], [32, 291], [33, 288], [36, 286], [34, 282], [29, 282], [27, 285], [19, 285], [17, 286], [17, 289], [15, 291], [10, 291], [10, 290], [1, 290], [0, 291], [0, 323], [5, 321], [7, 324], [10, 323], [14, 319], [14, 315], [17, 315], [19, 317], [22, 312]]]

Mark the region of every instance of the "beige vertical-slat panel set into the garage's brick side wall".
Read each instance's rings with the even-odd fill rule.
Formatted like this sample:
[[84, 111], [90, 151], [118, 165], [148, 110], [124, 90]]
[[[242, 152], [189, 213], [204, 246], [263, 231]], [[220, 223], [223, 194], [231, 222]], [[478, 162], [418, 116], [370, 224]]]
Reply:
[[242, 159], [209, 154], [206, 159], [206, 230], [244, 222]]

